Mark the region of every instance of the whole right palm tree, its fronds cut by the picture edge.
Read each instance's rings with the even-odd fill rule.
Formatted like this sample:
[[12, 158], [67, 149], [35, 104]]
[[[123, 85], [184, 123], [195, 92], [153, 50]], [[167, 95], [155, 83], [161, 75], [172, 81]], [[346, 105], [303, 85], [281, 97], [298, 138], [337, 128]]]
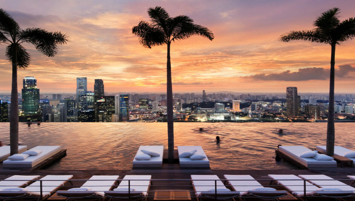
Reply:
[[331, 70], [329, 83], [329, 113], [327, 126], [327, 155], [334, 155], [334, 65], [335, 65], [335, 46], [346, 40], [355, 37], [355, 20], [349, 18], [340, 22], [339, 8], [329, 9], [313, 22], [315, 27], [312, 30], [291, 31], [280, 40], [289, 42], [290, 40], [308, 40], [316, 43], [326, 43], [331, 45]]

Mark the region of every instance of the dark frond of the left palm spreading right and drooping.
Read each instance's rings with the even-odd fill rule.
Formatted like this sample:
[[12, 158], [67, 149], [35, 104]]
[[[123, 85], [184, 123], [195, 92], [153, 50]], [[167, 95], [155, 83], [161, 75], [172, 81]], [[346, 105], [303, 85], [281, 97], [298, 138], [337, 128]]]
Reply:
[[66, 34], [61, 32], [48, 32], [40, 28], [27, 28], [21, 31], [19, 39], [29, 42], [46, 56], [55, 56], [58, 53], [58, 45], [66, 44], [69, 40]]

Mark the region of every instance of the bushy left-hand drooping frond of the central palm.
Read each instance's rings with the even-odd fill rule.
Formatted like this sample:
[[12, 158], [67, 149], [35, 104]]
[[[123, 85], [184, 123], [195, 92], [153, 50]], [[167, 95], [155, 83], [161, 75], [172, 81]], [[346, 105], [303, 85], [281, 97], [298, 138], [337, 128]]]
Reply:
[[164, 32], [146, 21], [140, 21], [132, 28], [132, 33], [139, 37], [139, 42], [146, 48], [166, 43]]

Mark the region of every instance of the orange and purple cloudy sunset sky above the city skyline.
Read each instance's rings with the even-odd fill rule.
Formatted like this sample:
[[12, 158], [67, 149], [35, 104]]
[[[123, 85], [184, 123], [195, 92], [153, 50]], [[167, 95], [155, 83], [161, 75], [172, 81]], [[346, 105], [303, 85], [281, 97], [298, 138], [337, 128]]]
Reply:
[[[341, 9], [341, 20], [355, 17], [355, 1], [334, 0], [0, 0], [21, 28], [67, 33], [70, 42], [48, 58], [25, 47], [31, 65], [18, 71], [37, 78], [40, 92], [75, 93], [76, 77], [104, 80], [105, 92], [166, 91], [166, 46], [144, 48], [132, 27], [149, 20], [147, 9], [162, 6], [170, 16], [190, 16], [208, 27], [213, 41], [194, 36], [171, 45], [173, 92], [329, 91], [331, 47], [278, 41], [291, 30], [312, 29], [322, 12]], [[11, 64], [0, 46], [0, 92], [11, 91]], [[355, 93], [355, 41], [337, 46], [335, 93]]]

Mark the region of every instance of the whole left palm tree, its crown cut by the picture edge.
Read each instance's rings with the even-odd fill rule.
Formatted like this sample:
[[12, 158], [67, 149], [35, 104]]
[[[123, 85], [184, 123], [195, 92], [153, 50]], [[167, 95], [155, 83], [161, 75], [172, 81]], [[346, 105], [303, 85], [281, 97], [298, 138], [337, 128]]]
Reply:
[[18, 153], [18, 96], [17, 68], [29, 66], [30, 55], [22, 43], [31, 43], [46, 56], [55, 56], [58, 45], [66, 44], [66, 34], [48, 32], [40, 28], [21, 29], [18, 23], [4, 10], [0, 9], [0, 43], [5, 43], [6, 58], [12, 63], [12, 86], [10, 106], [10, 154]]

